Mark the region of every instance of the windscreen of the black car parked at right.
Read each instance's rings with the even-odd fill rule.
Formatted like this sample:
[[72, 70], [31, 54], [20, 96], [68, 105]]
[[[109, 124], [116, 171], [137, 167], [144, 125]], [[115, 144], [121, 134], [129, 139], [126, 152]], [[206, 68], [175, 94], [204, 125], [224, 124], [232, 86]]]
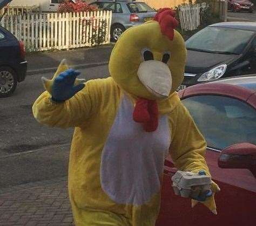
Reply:
[[208, 26], [186, 41], [188, 50], [224, 54], [240, 54], [254, 31]]

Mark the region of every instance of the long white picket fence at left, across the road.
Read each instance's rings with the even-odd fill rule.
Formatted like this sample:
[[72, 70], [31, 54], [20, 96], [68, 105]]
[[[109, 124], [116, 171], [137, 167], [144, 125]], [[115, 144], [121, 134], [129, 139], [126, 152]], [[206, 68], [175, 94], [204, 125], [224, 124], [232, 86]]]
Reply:
[[102, 33], [105, 33], [102, 44], [110, 43], [111, 19], [111, 11], [28, 13], [5, 15], [1, 25], [23, 40], [28, 51], [44, 51], [92, 46], [93, 37]]

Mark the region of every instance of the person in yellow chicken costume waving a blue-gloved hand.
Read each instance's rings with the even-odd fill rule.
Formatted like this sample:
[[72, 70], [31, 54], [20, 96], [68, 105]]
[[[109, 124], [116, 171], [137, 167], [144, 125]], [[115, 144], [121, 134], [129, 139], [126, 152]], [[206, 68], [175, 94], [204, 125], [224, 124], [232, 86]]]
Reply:
[[[186, 48], [174, 16], [162, 9], [127, 29], [111, 53], [109, 78], [80, 83], [79, 72], [62, 62], [52, 80], [43, 79], [47, 91], [33, 115], [75, 127], [69, 197], [76, 225], [155, 225], [168, 154], [179, 170], [210, 175], [206, 142], [176, 92]], [[218, 190], [212, 182], [203, 202], [215, 214]]]

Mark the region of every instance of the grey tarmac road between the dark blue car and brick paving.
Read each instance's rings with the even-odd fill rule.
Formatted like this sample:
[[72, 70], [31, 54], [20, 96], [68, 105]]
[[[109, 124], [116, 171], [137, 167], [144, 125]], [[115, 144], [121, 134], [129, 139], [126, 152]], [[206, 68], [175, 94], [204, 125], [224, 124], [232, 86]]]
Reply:
[[[109, 74], [107, 65], [79, 71], [86, 79]], [[32, 117], [31, 106], [44, 91], [42, 76], [52, 73], [27, 76], [14, 95], [0, 99], [0, 189], [67, 173], [73, 128], [49, 128]]]

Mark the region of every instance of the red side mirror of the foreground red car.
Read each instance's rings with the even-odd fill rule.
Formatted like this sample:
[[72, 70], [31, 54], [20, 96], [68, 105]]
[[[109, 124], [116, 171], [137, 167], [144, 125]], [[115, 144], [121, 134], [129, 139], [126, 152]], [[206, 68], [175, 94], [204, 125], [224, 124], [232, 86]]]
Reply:
[[220, 168], [249, 169], [256, 177], [256, 145], [238, 143], [225, 148], [218, 160]]

